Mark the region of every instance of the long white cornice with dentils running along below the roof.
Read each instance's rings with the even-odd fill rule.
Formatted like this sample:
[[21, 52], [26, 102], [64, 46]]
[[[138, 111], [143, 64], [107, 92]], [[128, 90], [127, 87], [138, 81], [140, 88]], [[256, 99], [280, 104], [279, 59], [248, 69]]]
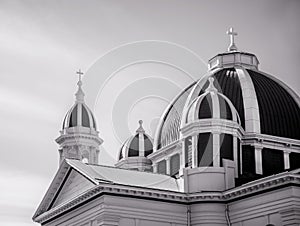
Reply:
[[255, 193], [267, 192], [270, 189], [295, 184], [300, 186], [300, 175], [290, 172], [281, 173], [275, 176], [262, 178], [249, 182], [242, 186], [224, 192], [199, 192], [187, 194], [183, 192], [152, 189], [137, 186], [127, 186], [120, 184], [101, 183], [86, 192], [74, 197], [68, 202], [62, 203], [33, 218], [38, 223], [43, 223], [57, 217], [73, 208], [86, 203], [86, 201], [102, 196], [127, 196], [138, 199], [150, 199], [164, 202], [176, 202], [181, 204], [192, 204], [201, 202], [230, 202], [253, 195]]

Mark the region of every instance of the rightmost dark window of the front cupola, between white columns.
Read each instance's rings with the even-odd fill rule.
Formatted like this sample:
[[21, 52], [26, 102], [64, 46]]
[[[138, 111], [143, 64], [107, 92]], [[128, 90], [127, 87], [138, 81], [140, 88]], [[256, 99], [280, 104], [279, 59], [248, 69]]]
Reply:
[[220, 134], [220, 166], [223, 166], [222, 159], [233, 160], [233, 137], [230, 134]]

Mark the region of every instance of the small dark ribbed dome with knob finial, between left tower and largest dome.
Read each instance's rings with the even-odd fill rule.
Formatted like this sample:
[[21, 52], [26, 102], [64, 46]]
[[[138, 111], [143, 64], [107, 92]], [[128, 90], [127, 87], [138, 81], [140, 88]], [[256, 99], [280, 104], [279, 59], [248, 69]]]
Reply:
[[118, 160], [130, 157], [147, 157], [153, 152], [152, 138], [145, 133], [142, 123], [143, 121], [140, 120], [136, 134], [129, 137], [122, 145]]

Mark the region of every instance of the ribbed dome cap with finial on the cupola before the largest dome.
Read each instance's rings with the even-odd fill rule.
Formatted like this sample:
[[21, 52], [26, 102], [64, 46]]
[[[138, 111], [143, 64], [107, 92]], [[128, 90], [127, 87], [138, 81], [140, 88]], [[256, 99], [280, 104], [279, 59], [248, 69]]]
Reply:
[[184, 115], [185, 124], [201, 119], [226, 119], [240, 123], [238, 113], [231, 101], [214, 87], [214, 79], [209, 78], [210, 85], [205, 93], [195, 98]]

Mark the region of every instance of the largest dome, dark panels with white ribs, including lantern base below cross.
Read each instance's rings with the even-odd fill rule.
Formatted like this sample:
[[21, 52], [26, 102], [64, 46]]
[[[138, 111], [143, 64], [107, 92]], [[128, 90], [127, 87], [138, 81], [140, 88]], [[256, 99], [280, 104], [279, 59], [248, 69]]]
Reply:
[[183, 90], [167, 107], [155, 136], [155, 149], [180, 139], [182, 116], [191, 102], [205, 93], [208, 78], [238, 112], [245, 133], [300, 140], [300, 99], [287, 85], [258, 70], [255, 55], [227, 52], [209, 61], [209, 71]]

